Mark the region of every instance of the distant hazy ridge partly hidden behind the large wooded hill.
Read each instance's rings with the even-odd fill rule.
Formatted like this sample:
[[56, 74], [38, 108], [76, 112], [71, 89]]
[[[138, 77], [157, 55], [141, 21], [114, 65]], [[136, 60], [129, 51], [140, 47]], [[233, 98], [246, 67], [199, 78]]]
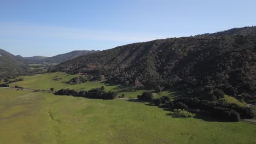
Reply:
[[95, 52], [99, 52], [99, 51], [95, 51], [95, 50], [72, 51], [72, 52], [61, 54], [61, 55], [44, 58], [40, 61], [37, 61], [36, 63], [62, 63], [70, 59], [73, 59], [75, 57], [90, 55], [91, 53], [95, 53]]

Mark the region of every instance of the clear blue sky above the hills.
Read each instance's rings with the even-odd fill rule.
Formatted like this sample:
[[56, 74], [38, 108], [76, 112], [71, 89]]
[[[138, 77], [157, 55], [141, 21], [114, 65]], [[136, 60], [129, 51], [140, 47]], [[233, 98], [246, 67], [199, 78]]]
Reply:
[[0, 0], [0, 49], [23, 57], [255, 25], [255, 0]]

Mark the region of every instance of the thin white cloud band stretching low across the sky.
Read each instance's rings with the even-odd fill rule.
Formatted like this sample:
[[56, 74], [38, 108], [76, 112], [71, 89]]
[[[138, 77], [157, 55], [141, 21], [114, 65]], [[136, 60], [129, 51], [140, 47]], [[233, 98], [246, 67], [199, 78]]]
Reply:
[[71, 40], [102, 40], [140, 42], [167, 38], [166, 35], [149, 35], [136, 32], [97, 31], [83, 28], [35, 26], [26, 23], [0, 23], [1, 36], [18, 38], [50, 38]]

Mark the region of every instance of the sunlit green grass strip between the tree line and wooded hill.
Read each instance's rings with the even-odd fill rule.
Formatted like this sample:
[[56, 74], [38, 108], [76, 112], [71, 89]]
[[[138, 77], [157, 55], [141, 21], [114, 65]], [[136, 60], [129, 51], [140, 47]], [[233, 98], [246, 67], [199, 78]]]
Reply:
[[[88, 91], [92, 88], [104, 86], [106, 88], [106, 91], [116, 91], [116, 92], [119, 92], [119, 95], [124, 93], [125, 97], [127, 98], [137, 98], [137, 95], [145, 91], [145, 90], [136, 90], [131, 86], [114, 85], [111, 83], [106, 83], [104, 81], [88, 81], [88, 82], [77, 84], [77, 85], [71, 85], [71, 84], [65, 83], [76, 76], [80, 76], [80, 75], [69, 75], [66, 73], [57, 72], [57, 73], [39, 74], [39, 75], [33, 75], [33, 76], [20, 76], [24, 78], [24, 81], [10, 83], [10, 87], [21, 86], [24, 88], [44, 89], [48, 91], [51, 87], [54, 87], [55, 91], [61, 88], [70, 88], [70, 89], [75, 89], [77, 91], [83, 91], [83, 90]], [[61, 80], [55, 81], [54, 79], [56, 77], [61, 77]], [[165, 92], [157, 93], [154, 95], [155, 97], [161, 97], [163, 95], [170, 96], [170, 97], [177, 97], [178, 94], [179, 93], [175, 89], [168, 89]]]

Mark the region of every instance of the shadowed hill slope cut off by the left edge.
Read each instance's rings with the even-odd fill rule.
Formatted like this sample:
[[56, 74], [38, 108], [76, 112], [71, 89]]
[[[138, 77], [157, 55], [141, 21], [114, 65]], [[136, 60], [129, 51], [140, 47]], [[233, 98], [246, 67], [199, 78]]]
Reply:
[[0, 49], [0, 77], [26, 73], [28, 67], [15, 59], [11, 53]]

